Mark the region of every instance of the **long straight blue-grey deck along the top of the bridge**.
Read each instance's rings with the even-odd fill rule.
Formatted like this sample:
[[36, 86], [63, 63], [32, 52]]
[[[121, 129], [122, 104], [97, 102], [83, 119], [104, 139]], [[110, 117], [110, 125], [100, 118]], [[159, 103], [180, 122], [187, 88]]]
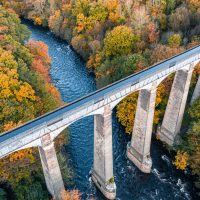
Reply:
[[48, 125], [49, 123], [51, 123], [51, 121], [53, 119], [57, 119], [59, 117], [62, 118], [63, 114], [66, 112], [77, 109], [79, 106], [98, 102], [98, 101], [102, 100], [105, 96], [112, 94], [116, 90], [125, 88], [128, 85], [134, 85], [144, 79], [149, 78], [150, 76], [153, 76], [158, 71], [161, 72], [170, 67], [173, 67], [174, 65], [176, 65], [180, 62], [183, 62], [183, 61], [189, 59], [190, 57], [197, 55], [199, 53], [200, 53], [200, 45], [196, 46], [192, 49], [189, 49], [181, 54], [178, 54], [174, 57], [171, 57], [167, 60], [164, 60], [161, 63], [155, 64], [143, 71], [132, 74], [132, 75], [130, 75], [124, 79], [121, 79], [113, 84], [110, 84], [102, 89], [96, 90], [95, 92], [92, 92], [74, 102], [66, 104], [52, 112], [46, 113], [45, 115], [42, 115], [34, 120], [31, 120], [15, 129], [12, 129], [10, 131], [2, 133], [0, 135], [0, 143], [3, 143], [7, 139], [15, 137], [15, 136], [17, 136], [27, 130], [33, 129], [35, 127], [39, 127], [42, 125]]

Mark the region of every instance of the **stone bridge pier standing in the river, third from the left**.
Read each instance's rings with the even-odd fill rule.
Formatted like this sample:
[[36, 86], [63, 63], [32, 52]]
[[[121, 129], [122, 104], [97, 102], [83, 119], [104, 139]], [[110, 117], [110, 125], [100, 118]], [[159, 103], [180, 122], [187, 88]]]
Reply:
[[142, 89], [139, 93], [131, 142], [127, 145], [127, 157], [144, 173], [150, 173], [151, 135], [155, 110], [156, 87]]

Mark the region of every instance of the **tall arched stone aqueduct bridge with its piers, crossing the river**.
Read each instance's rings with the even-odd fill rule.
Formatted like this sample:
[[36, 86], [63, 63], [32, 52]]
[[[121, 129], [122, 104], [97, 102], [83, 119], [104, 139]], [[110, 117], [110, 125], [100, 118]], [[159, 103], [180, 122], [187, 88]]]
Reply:
[[[70, 124], [94, 115], [94, 162], [92, 179], [109, 199], [116, 196], [113, 181], [112, 110], [129, 94], [139, 91], [137, 111], [128, 158], [143, 172], [150, 173], [150, 145], [157, 86], [176, 72], [165, 116], [158, 135], [172, 145], [180, 131], [194, 66], [200, 61], [200, 46], [133, 74], [75, 102], [47, 113], [0, 136], [0, 158], [20, 149], [37, 146], [47, 188], [56, 200], [62, 200], [62, 176], [54, 148], [54, 139]], [[200, 80], [192, 101], [200, 94]]]

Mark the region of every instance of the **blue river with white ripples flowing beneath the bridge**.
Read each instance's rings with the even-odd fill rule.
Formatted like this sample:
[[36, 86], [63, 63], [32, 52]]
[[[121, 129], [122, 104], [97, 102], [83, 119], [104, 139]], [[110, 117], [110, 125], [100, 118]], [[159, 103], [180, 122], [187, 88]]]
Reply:
[[[50, 31], [24, 21], [31, 30], [31, 39], [49, 46], [52, 58], [50, 74], [62, 99], [71, 102], [96, 89], [94, 77], [89, 75], [84, 61], [63, 40]], [[74, 186], [82, 199], [105, 199], [91, 181], [93, 162], [93, 117], [84, 118], [69, 127], [70, 143], [66, 146], [74, 171]], [[114, 177], [118, 200], [186, 200], [195, 197], [194, 184], [189, 171], [180, 172], [172, 165], [168, 152], [156, 139], [152, 139], [152, 172], [143, 174], [127, 158], [126, 145], [131, 138], [113, 113]]]

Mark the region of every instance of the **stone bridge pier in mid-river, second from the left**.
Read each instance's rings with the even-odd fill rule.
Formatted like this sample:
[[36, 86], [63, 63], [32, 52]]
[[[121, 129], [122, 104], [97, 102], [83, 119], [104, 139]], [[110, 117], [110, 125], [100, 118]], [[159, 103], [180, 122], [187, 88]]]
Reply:
[[92, 180], [104, 196], [115, 199], [116, 185], [113, 177], [112, 110], [104, 107], [103, 115], [94, 116], [94, 164]]

